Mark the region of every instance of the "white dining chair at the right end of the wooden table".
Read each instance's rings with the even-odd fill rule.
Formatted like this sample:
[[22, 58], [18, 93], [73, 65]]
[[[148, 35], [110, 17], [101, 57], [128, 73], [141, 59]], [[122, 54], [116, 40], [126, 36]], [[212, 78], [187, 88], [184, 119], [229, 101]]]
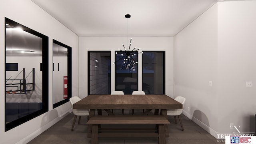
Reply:
[[180, 126], [182, 128], [182, 131], [184, 131], [184, 128], [183, 128], [180, 116], [182, 114], [183, 104], [186, 101], [186, 98], [184, 98], [182, 96], [177, 96], [174, 100], [176, 100], [177, 102], [180, 102], [182, 104], [182, 108], [179, 108], [179, 109], [167, 109], [167, 116], [174, 116], [175, 124], [177, 124], [176, 116], [178, 116], [179, 121], [180, 121]]

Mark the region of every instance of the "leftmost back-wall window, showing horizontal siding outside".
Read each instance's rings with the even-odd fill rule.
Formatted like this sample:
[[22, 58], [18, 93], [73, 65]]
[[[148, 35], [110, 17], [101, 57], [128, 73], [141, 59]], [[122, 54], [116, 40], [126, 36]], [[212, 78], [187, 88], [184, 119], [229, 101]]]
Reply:
[[88, 52], [90, 79], [88, 94], [110, 94], [111, 52]]

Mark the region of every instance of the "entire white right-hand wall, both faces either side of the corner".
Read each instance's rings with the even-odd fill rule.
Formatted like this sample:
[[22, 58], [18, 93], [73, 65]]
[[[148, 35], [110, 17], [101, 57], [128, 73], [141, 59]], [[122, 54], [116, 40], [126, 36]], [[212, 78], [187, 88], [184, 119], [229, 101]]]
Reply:
[[254, 134], [256, 88], [246, 81], [256, 80], [255, 15], [256, 1], [218, 2], [174, 37], [175, 96], [216, 138], [239, 134], [230, 123]]

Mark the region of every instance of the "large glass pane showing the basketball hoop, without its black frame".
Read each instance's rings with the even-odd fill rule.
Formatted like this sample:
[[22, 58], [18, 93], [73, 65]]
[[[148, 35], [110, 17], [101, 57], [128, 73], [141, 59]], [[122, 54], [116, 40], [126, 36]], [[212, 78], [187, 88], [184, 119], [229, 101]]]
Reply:
[[6, 24], [6, 124], [42, 109], [42, 38]]

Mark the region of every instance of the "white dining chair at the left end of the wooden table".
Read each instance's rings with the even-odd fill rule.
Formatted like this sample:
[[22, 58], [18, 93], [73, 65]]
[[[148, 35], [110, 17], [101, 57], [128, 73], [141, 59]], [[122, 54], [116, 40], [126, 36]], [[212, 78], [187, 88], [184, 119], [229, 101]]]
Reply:
[[71, 131], [73, 131], [77, 116], [79, 116], [78, 124], [80, 124], [81, 116], [87, 116], [87, 121], [89, 120], [89, 110], [88, 109], [74, 109], [73, 108], [74, 103], [76, 103], [80, 100], [81, 99], [78, 96], [73, 96], [72, 98], [69, 99], [71, 107], [72, 107], [72, 111], [74, 114], [74, 120], [73, 120]]

